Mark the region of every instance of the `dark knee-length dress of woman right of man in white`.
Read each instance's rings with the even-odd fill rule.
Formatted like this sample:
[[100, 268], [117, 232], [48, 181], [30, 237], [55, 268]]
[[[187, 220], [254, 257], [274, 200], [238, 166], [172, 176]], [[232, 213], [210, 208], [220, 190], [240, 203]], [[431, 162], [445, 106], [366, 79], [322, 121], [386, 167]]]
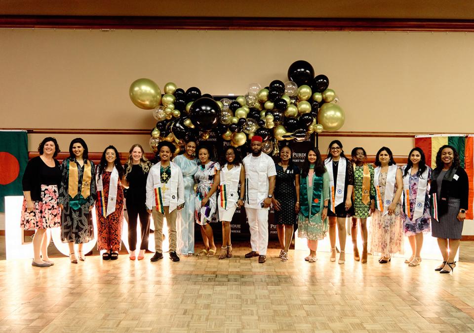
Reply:
[[276, 224], [297, 224], [298, 219], [295, 211], [296, 204], [296, 175], [300, 174], [300, 169], [295, 166], [288, 166], [286, 170], [283, 167], [275, 165], [276, 183], [275, 199], [280, 203], [280, 210], [275, 211]]

